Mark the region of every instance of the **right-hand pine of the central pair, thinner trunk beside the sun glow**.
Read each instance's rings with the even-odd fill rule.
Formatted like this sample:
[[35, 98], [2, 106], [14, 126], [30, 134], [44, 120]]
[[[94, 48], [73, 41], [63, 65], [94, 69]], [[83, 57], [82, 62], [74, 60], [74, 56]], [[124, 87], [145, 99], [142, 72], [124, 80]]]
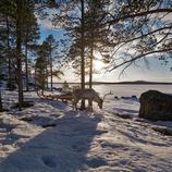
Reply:
[[110, 0], [88, 0], [86, 45], [89, 52], [89, 88], [93, 87], [94, 53], [99, 52], [102, 56], [107, 56], [109, 53], [107, 50], [111, 51], [114, 47], [111, 38], [112, 30], [107, 25], [107, 9], [110, 4]]

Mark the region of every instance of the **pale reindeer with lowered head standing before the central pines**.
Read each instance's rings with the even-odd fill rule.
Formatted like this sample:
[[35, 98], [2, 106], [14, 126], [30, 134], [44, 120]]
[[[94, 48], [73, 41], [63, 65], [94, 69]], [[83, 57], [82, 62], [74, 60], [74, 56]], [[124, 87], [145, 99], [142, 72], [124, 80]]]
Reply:
[[87, 99], [88, 101], [97, 102], [98, 107], [100, 109], [102, 109], [102, 103], [103, 103], [105, 97], [107, 95], [109, 95], [109, 94], [106, 94], [103, 96], [103, 99], [101, 99], [99, 97], [99, 95], [94, 89], [89, 89], [89, 88], [84, 89], [84, 90], [82, 90], [82, 89], [74, 89], [73, 90], [73, 95], [72, 95], [72, 97], [73, 97], [73, 108], [77, 110], [78, 101], [82, 100], [82, 99]]

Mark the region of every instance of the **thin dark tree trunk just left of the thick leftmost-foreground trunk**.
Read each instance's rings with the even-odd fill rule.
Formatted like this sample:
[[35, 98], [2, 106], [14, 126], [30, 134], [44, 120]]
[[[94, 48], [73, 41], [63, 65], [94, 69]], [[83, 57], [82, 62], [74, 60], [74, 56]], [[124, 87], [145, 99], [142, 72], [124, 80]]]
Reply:
[[11, 59], [10, 59], [10, 26], [9, 26], [9, 17], [7, 15], [7, 47], [8, 47], [8, 65], [9, 65], [9, 88], [12, 90], [12, 72], [11, 72]]

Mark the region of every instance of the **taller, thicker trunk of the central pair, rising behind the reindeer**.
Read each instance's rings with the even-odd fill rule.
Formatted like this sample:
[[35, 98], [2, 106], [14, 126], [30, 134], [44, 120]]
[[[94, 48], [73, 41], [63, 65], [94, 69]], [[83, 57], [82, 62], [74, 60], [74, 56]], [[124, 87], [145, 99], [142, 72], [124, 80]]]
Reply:
[[[82, 45], [81, 45], [81, 87], [84, 91], [85, 89], [85, 57], [84, 57], [84, 50], [85, 50], [85, 19], [84, 19], [84, 0], [81, 0], [82, 4]], [[81, 110], [85, 109], [85, 100], [82, 99]]]

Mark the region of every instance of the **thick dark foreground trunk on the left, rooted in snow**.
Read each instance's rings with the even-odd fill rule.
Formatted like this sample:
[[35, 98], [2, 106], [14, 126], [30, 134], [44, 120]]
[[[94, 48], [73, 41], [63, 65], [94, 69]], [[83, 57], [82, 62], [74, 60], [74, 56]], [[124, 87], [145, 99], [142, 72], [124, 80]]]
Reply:
[[19, 109], [23, 106], [23, 77], [22, 77], [22, 0], [16, 0], [16, 66], [17, 66], [17, 85], [19, 85]]

